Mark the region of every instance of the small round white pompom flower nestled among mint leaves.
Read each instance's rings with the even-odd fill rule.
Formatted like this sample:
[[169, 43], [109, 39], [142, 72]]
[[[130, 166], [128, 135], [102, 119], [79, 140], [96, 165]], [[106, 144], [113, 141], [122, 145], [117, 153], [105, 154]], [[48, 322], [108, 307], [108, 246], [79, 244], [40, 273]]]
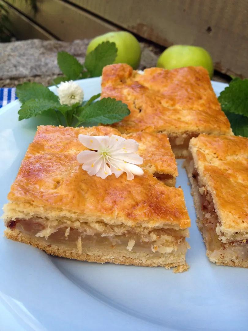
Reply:
[[61, 105], [74, 105], [83, 102], [84, 91], [73, 80], [61, 82], [57, 89]]

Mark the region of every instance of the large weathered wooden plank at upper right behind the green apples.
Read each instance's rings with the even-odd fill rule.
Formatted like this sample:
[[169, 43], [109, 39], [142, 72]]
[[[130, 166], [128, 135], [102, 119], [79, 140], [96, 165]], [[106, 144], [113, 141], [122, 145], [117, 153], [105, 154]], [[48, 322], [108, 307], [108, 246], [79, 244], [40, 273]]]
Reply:
[[246, 0], [70, 1], [163, 46], [202, 46], [211, 53], [216, 69], [248, 77]]

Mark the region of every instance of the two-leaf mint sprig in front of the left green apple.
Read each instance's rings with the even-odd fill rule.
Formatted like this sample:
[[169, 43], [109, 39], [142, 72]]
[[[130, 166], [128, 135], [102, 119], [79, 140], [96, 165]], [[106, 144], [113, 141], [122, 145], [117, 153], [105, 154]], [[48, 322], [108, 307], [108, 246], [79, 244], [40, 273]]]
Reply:
[[55, 78], [54, 83], [101, 76], [103, 67], [114, 62], [117, 51], [114, 42], [104, 41], [86, 55], [84, 64], [79, 63], [74, 56], [67, 52], [59, 52], [57, 55], [58, 66], [64, 76]]

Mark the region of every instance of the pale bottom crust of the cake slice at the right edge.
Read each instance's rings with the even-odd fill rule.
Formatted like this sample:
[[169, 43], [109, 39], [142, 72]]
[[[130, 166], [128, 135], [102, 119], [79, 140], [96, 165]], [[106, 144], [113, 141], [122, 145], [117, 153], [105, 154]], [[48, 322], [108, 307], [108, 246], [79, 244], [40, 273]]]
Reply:
[[189, 160], [185, 161], [184, 167], [186, 168], [186, 172], [191, 183], [191, 195], [193, 196], [195, 211], [197, 215], [196, 224], [201, 232], [203, 241], [206, 246], [206, 256], [211, 262], [216, 263], [217, 265], [248, 268], [248, 259], [242, 260], [239, 254], [235, 252], [235, 250], [237, 250], [237, 246], [231, 247], [226, 245], [225, 247], [225, 244], [219, 241], [217, 234], [215, 234], [216, 238], [214, 238], [214, 240], [218, 242], [217, 245], [220, 248], [217, 247], [217, 249], [215, 250], [210, 250], [210, 245], [208, 244], [207, 238], [207, 236], [209, 237], [208, 229], [206, 226], [204, 226], [203, 218], [201, 217], [202, 212], [199, 187], [197, 185], [197, 181], [192, 177], [192, 172], [194, 171], [194, 168], [190, 164]]

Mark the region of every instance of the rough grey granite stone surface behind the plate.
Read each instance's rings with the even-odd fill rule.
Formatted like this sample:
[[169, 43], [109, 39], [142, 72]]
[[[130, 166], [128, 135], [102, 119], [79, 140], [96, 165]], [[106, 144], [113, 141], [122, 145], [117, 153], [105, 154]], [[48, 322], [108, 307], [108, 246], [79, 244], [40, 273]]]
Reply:
[[[0, 43], [0, 86], [13, 87], [24, 81], [50, 85], [61, 74], [57, 53], [66, 51], [83, 63], [90, 39], [64, 42], [30, 39]], [[156, 65], [160, 48], [141, 43], [142, 58], [139, 69]]]

